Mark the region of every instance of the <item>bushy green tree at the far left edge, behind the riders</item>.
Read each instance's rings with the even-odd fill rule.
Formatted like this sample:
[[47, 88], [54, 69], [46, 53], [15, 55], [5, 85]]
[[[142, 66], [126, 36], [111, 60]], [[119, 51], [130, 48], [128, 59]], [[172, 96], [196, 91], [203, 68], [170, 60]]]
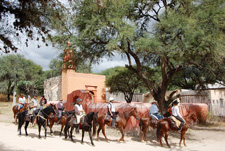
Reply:
[[[43, 85], [36, 85], [42, 76], [42, 67], [26, 60], [22, 55], [6, 55], [0, 58], [1, 90], [9, 101], [14, 87], [26, 94], [38, 93]], [[42, 88], [41, 88], [42, 87]]]

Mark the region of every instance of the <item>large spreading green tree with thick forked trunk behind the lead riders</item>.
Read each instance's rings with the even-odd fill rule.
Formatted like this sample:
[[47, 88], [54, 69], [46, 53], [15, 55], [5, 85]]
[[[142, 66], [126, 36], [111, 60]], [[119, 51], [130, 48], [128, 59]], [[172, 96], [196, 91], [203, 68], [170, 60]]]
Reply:
[[218, 76], [225, 70], [223, 0], [76, 0], [73, 6], [78, 36], [64, 36], [73, 39], [79, 57], [119, 52], [162, 111], [170, 103], [169, 84], [184, 69], [198, 69], [212, 82], [224, 80]]

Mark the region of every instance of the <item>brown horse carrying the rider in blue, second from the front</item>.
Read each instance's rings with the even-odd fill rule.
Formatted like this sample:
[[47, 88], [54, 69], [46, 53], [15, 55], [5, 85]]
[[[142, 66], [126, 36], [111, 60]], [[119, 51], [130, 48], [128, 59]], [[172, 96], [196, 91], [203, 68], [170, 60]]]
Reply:
[[143, 141], [143, 134], [144, 140], [147, 142], [146, 133], [148, 131], [148, 127], [151, 126], [152, 128], [157, 128], [158, 120], [156, 118], [152, 118], [151, 116], [146, 118], [140, 118], [139, 127], [140, 127], [140, 134], [141, 134], [141, 141]]

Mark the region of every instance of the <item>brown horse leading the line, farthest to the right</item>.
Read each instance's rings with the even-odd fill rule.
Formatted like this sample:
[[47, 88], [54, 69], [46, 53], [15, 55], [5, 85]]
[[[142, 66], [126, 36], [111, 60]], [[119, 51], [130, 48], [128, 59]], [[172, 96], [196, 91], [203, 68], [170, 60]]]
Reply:
[[[186, 146], [185, 133], [190, 126], [198, 122], [198, 118], [194, 112], [190, 112], [187, 116], [184, 117], [184, 119], [186, 123], [182, 126], [182, 129], [181, 129], [181, 137], [180, 137], [179, 146], [181, 146], [182, 140], [183, 140], [184, 146]], [[163, 146], [161, 138], [162, 136], [164, 136], [166, 144], [170, 148], [170, 145], [168, 144], [168, 141], [167, 141], [169, 131], [177, 131], [177, 127], [174, 126], [174, 124], [172, 123], [172, 120], [170, 118], [164, 118], [160, 120], [157, 124], [157, 131], [156, 131], [157, 141], [160, 142], [161, 146]]]

